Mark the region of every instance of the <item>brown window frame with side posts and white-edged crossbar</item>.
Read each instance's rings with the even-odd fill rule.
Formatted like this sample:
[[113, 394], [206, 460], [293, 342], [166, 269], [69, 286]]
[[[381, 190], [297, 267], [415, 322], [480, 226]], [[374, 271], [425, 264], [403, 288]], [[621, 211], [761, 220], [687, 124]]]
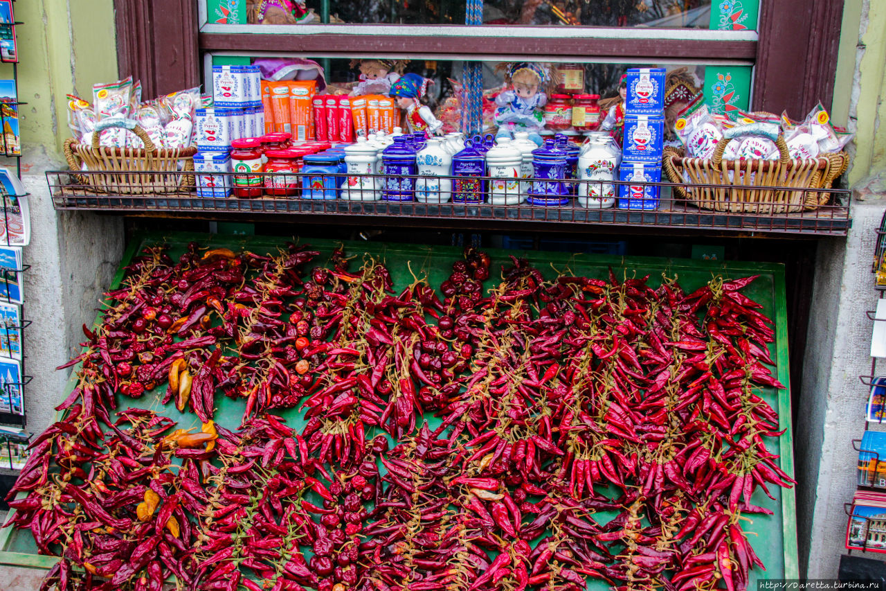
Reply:
[[[497, 25], [291, 25], [278, 26], [286, 31], [276, 33], [269, 32], [274, 26], [268, 25], [206, 23], [200, 0], [114, 0], [114, 7], [120, 75], [142, 80], [144, 96], [198, 85], [201, 53], [206, 52], [426, 59], [530, 55], [551, 61], [638, 64], [717, 64], [719, 60], [754, 67], [753, 110], [778, 114], [784, 110], [801, 117], [819, 101], [831, 106], [843, 0], [760, 0], [756, 39], [747, 32], [699, 29]], [[228, 29], [219, 32], [219, 27]], [[233, 32], [231, 27], [263, 32]]]

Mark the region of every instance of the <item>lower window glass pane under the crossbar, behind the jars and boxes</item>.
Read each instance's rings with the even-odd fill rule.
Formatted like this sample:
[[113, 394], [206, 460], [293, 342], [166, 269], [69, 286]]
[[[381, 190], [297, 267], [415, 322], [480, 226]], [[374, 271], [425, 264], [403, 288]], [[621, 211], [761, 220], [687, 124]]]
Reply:
[[[469, 111], [470, 101], [462, 85], [465, 74], [462, 61], [416, 59], [402, 63], [379, 59], [251, 59], [245, 56], [215, 56], [213, 59], [215, 66], [246, 65], [251, 61], [261, 68], [265, 79], [316, 78], [318, 83], [314, 91], [317, 94], [388, 94], [392, 81], [399, 77], [398, 72], [426, 78], [430, 82], [422, 103], [430, 108], [435, 121], [442, 122], [441, 133], [461, 131], [465, 124], [462, 115]], [[523, 68], [493, 61], [473, 63], [479, 63], [481, 67], [482, 129], [495, 131], [500, 125], [520, 127], [528, 121], [527, 118], [535, 117], [538, 122], [535, 127], [541, 136], [556, 131], [579, 136], [598, 130], [602, 124], [618, 123], [621, 112], [615, 107], [620, 102], [619, 84], [629, 67], [637, 67], [636, 64], [561, 63], [533, 64], [531, 68]], [[392, 69], [385, 70], [385, 67]], [[532, 68], [541, 68], [546, 77], [559, 82], [533, 86]], [[668, 138], [673, 138], [672, 127], [677, 114], [699, 92], [703, 92], [711, 112], [727, 114], [737, 108], [748, 109], [750, 67], [690, 64], [667, 65], [665, 68], [664, 129]], [[517, 74], [521, 69], [525, 71]], [[318, 75], [318, 72], [323, 74]], [[212, 74], [207, 75], [207, 84], [211, 84]], [[519, 90], [523, 94], [517, 95], [520, 84]], [[404, 113], [395, 113], [400, 116], [394, 124], [407, 129]], [[607, 122], [607, 115], [611, 115], [614, 121]]]

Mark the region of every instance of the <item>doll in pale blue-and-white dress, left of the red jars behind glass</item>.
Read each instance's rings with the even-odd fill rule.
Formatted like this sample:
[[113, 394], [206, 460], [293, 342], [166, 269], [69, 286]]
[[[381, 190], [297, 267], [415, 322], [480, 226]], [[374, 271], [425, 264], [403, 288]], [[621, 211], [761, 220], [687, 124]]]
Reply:
[[495, 97], [495, 124], [499, 128], [495, 137], [512, 138], [514, 131], [527, 131], [529, 138], [541, 146], [540, 131], [545, 127], [541, 107], [548, 103], [548, 87], [556, 83], [550, 68], [520, 61], [499, 64], [496, 69], [504, 69], [504, 81], [510, 88]]

